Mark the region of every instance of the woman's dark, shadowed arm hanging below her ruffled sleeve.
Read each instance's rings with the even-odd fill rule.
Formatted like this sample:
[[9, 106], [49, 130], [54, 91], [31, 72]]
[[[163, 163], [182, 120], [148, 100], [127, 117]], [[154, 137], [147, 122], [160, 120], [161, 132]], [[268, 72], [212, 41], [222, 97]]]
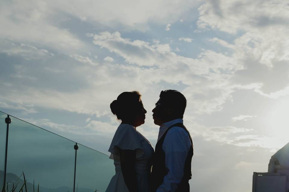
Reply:
[[120, 166], [123, 179], [129, 192], [138, 191], [136, 172], [135, 172], [135, 150], [120, 149]]

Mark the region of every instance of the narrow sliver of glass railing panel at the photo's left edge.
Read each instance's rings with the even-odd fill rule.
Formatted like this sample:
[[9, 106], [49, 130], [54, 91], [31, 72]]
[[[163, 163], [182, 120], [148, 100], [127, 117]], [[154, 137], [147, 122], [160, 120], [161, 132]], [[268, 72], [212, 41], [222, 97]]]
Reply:
[[6, 123], [7, 114], [0, 112], [0, 191], [4, 181], [4, 162], [5, 162], [5, 144], [6, 144]]

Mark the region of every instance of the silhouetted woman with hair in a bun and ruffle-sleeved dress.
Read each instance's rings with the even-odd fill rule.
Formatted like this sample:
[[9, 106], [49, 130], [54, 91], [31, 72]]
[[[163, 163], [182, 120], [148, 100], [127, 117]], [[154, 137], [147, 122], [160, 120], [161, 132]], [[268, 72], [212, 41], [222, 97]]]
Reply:
[[110, 104], [111, 112], [121, 120], [110, 144], [115, 175], [106, 192], [149, 192], [148, 177], [154, 149], [136, 127], [144, 124], [145, 113], [138, 91], [123, 92]]

